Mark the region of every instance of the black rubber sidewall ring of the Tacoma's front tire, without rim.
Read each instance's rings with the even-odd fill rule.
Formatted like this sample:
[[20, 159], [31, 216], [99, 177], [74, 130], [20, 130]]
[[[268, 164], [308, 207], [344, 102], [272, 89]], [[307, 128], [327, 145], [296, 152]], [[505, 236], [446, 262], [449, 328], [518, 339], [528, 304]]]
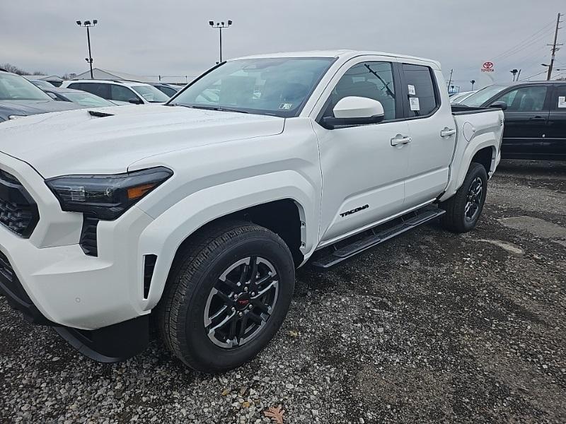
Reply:
[[[188, 363], [205, 364], [207, 369], [222, 371], [253, 358], [275, 336], [291, 304], [294, 290], [294, 263], [289, 249], [282, 240], [261, 233], [248, 232], [238, 235], [222, 245], [220, 252], [213, 253], [216, 256], [211, 255], [191, 278], [187, 290], [190, 293], [185, 294], [185, 302], [178, 312], [184, 325], [179, 326], [177, 336], [183, 354], [187, 355], [185, 359]], [[204, 328], [204, 308], [207, 298], [221, 273], [234, 262], [250, 256], [265, 258], [275, 267], [279, 276], [277, 302], [260, 334], [243, 346], [221, 348], [212, 343]]]

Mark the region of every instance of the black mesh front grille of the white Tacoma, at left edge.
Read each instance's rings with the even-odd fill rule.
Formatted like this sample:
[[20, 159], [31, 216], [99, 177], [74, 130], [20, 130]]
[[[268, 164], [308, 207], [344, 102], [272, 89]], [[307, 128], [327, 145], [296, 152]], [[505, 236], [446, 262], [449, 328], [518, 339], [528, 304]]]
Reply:
[[16, 177], [0, 170], [0, 224], [28, 238], [40, 214], [32, 196]]

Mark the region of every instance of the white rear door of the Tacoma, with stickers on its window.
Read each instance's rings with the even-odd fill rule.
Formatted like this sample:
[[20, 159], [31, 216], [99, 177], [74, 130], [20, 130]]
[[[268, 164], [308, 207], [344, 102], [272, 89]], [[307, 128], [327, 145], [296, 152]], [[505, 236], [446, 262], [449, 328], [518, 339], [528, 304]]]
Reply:
[[435, 199], [446, 188], [456, 145], [456, 123], [446, 90], [441, 98], [437, 85], [440, 71], [422, 64], [401, 64], [400, 72], [411, 137], [405, 180], [405, 207], [410, 208]]

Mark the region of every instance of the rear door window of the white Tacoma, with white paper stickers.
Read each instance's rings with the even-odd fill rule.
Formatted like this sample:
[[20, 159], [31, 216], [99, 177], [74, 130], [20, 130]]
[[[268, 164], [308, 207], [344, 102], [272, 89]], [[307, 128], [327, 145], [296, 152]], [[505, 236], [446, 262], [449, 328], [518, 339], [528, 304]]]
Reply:
[[408, 117], [424, 117], [434, 112], [439, 105], [439, 99], [432, 69], [428, 66], [403, 64], [403, 74], [409, 103]]

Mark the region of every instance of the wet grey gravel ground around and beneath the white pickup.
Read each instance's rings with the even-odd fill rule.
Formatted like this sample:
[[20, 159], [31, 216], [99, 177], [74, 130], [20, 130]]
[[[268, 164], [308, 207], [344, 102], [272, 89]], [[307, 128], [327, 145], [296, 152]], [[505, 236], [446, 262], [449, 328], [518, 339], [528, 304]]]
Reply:
[[304, 267], [275, 340], [225, 375], [156, 341], [93, 363], [0, 299], [0, 422], [565, 423], [565, 276], [566, 163], [503, 162], [477, 230]]

